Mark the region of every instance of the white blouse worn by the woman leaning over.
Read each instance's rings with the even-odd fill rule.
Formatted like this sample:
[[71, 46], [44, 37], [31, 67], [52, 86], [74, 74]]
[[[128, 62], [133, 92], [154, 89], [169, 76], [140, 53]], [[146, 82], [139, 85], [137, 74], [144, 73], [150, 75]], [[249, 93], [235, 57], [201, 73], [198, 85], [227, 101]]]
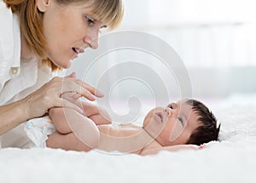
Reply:
[[[20, 59], [19, 18], [6, 8], [3, 0], [0, 0], [0, 25], [0, 106], [3, 106], [31, 94], [53, 74], [36, 57]], [[23, 125], [0, 136], [2, 147], [26, 147], [28, 139]]]

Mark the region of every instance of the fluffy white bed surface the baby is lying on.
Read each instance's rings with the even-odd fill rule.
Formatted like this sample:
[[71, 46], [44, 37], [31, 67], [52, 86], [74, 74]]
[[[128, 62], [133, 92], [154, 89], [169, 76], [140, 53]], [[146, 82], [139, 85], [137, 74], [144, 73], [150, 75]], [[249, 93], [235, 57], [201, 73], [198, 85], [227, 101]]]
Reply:
[[[255, 96], [210, 102], [221, 142], [141, 157], [55, 149], [0, 150], [0, 182], [256, 182]], [[207, 104], [209, 106], [209, 104]]]

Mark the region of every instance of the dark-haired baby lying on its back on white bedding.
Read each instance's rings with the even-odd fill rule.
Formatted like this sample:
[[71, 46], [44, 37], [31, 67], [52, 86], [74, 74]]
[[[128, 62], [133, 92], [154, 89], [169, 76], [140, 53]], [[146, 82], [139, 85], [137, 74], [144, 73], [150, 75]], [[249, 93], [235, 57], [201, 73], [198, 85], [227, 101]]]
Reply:
[[[136, 124], [111, 124], [108, 113], [78, 101], [84, 114], [70, 108], [49, 110], [48, 121], [55, 126], [46, 146], [88, 152], [124, 152], [148, 155], [161, 150], [198, 149], [203, 143], [218, 140], [217, 120], [198, 100], [180, 100], [152, 109]], [[47, 122], [48, 123], [48, 122]]]

